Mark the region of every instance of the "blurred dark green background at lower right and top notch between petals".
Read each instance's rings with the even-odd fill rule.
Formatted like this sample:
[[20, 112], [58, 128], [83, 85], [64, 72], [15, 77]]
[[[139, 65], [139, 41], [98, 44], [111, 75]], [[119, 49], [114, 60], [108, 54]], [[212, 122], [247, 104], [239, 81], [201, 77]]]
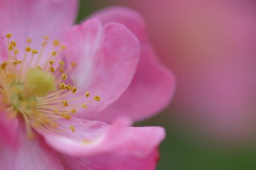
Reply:
[[[106, 6], [119, 5], [108, 0], [81, 0], [77, 22]], [[166, 139], [160, 146], [157, 170], [256, 170], [256, 147], [218, 147], [206, 143], [196, 133], [187, 133], [172, 121], [166, 110], [136, 126], [162, 126]], [[214, 142], [213, 142], [214, 143]]]

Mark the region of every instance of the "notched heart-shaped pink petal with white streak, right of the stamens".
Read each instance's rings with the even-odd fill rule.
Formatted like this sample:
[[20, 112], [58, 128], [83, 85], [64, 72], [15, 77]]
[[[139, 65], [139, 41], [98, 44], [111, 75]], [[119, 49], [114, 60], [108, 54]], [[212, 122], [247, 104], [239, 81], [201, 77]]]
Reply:
[[[88, 105], [88, 117], [115, 101], [131, 83], [139, 60], [140, 45], [125, 26], [93, 19], [75, 26], [67, 37], [65, 60], [77, 62], [69, 74], [78, 91], [89, 91], [101, 101]], [[80, 94], [81, 94], [80, 93]], [[79, 93], [78, 93], [79, 94]]]

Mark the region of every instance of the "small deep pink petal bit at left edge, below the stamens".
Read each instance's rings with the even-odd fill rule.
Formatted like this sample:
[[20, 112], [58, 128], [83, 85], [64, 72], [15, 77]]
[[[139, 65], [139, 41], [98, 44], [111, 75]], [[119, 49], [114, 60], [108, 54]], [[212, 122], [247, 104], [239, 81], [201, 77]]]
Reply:
[[4, 142], [12, 147], [17, 147], [18, 120], [10, 119], [5, 112], [0, 112], [0, 142]]

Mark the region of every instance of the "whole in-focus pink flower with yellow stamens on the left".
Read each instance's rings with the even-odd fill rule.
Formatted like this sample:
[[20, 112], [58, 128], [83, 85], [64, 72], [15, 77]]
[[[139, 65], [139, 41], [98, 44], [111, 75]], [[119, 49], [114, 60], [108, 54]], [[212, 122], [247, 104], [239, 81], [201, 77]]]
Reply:
[[127, 126], [168, 104], [174, 78], [137, 12], [71, 27], [76, 7], [0, 1], [0, 169], [153, 170], [163, 128]]

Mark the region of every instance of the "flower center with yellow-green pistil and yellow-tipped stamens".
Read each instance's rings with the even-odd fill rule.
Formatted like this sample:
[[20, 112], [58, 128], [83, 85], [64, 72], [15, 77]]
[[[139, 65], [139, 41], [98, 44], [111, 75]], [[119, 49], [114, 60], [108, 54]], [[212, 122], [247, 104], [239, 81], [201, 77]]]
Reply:
[[[45, 58], [44, 53], [49, 37], [44, 36], [39, 52], [27, 46], [23, 59], [19, 60], [17, 43], [10, 42], [12, 34], [7, 34], [6, 37], [8, 59], [0, 64], [0, 106], [10, 118], [16, 117], [25, 122], [29, 138], [33, 137], [35, 128], [44, 131], [66, 131], [67, 129], [58, 126], [60, 119], [71, 119], [77, 109], [87, 109], [87, 104], [92, 101], [99, 102], [99, 96], [84, 101], [83, 99], [90, 97], [88, 91], [82, 96], [72, 96], [77, 89], [70, 84], [66, 85], [65, 81], [67, 74], [76, 67], [76, 63], [71, 62], [69, 66], [65, 66], [62, 60], [59, 60], [58, 64], [55, 63], [58, 54], [65, 49], [58, 40], [53, 41], [54, 50], [48, 58]], [[32, 40], [28, 39], [27, 42], [29, 45]], [[74, 132], [75, 128], [70, 126], [69, 130]]]

